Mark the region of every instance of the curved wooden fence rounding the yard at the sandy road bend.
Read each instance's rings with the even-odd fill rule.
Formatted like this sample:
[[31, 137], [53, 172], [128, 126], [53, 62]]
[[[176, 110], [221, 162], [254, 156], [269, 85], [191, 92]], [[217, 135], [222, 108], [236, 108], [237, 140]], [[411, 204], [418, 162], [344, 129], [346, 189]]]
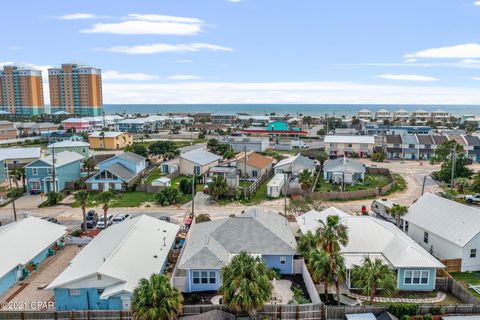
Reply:
[[378, 197], [389, 192], [395, 186], [395, 179], [390, 170], [385, 168], [367, 168], [368, 174], [381, 174], [389, 179], [389, 183], [383, 187], [377, 187], [369, 190], [358, 191], [338, 191], [338, 192], [312, 192], [311, 197], [314, 200], [354, 200], [369, 197]]

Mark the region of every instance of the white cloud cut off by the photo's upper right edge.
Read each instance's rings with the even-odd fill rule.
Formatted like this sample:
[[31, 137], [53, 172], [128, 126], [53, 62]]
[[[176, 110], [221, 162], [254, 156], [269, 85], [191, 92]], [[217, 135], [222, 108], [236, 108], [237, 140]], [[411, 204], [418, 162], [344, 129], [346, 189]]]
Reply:
[[407, 58], [480, 58], [480, 44], [466, 43], [455, 46], [440, 47], [417, 51], [406, 55]]

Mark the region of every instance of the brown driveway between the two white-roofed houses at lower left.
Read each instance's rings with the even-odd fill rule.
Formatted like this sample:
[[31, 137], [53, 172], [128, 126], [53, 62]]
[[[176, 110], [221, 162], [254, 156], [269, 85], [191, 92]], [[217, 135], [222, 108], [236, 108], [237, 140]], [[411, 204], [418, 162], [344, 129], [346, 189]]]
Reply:
[[[65, 246], [56, 255], [47, 258], [40, 264], [40, 268], [24, 281], [27, 285], [22, 291], [15, 295], [20, 286], [15, 285], [6, 293], [0, 296], [0, 301], [9, 299], [12, 306], [22, 306], [23, 310], [45, 310], [53, 309], [49, 301], [53, 301], [53, 291], [43, 288], [52, 282], [65, 268], [68, 263], [81, 250], [78, 246]], [[12, 296], [14, 296], [12, 298]], [[2, 310], [8, 310], [5, 307]]]

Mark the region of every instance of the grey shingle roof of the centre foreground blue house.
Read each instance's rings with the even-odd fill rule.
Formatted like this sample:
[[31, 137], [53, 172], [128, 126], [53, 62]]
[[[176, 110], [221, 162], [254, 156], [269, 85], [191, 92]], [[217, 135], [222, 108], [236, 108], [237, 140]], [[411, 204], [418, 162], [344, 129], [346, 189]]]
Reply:
[[294, 255], [296, 246], [285, 218], [254, 208], [235, 217], [194, 224], [178, 265], [181, 269], [218, 269], [240, 251]]

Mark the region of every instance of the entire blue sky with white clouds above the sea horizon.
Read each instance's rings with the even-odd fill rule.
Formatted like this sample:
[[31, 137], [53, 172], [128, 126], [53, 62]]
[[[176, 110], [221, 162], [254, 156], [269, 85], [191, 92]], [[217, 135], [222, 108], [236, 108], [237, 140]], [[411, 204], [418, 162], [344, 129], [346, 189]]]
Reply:
[[480, 104], [477, 0], [16, 0], [2, 11], [0, 63], [99, 67], [105, 103]]

